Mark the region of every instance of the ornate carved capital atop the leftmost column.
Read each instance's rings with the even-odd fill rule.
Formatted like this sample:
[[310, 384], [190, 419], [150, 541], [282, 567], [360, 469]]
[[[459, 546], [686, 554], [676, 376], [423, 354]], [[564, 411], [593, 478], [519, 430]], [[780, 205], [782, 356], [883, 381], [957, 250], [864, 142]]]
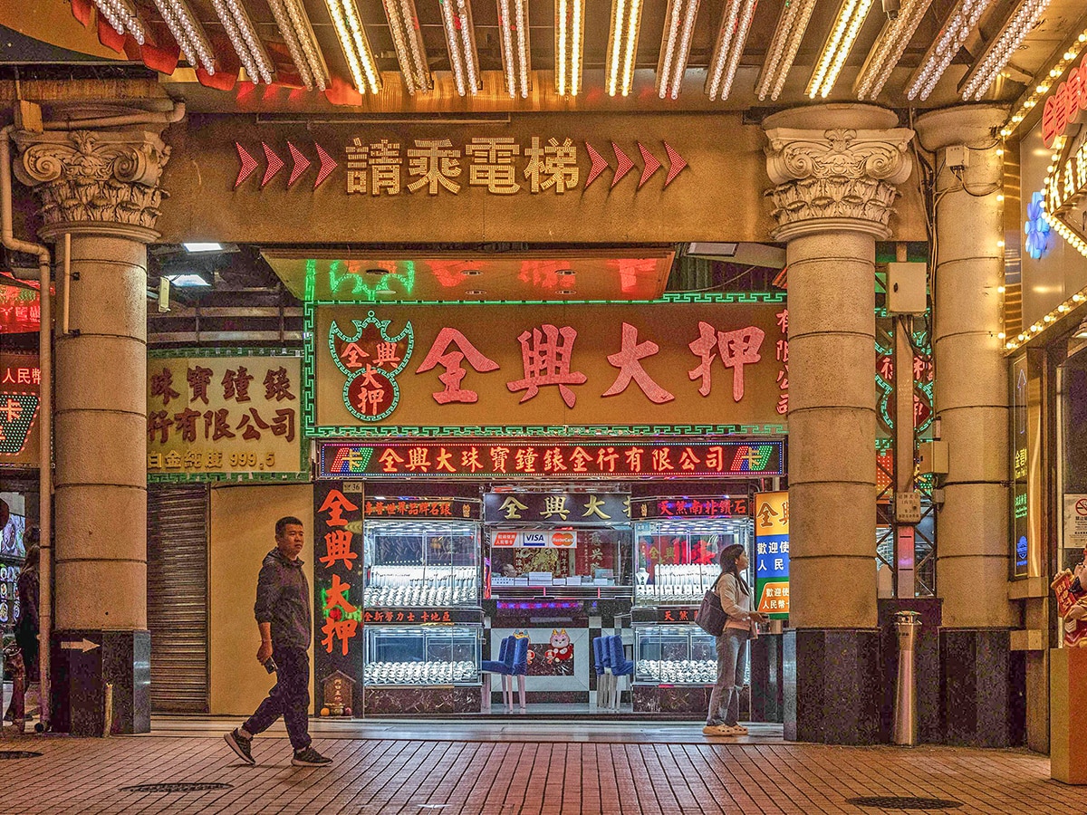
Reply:
[[153, 229], [170, 148], [148, 130], [20, 131], [15, 176], [33, 187], [46, 227], [124, 224]]

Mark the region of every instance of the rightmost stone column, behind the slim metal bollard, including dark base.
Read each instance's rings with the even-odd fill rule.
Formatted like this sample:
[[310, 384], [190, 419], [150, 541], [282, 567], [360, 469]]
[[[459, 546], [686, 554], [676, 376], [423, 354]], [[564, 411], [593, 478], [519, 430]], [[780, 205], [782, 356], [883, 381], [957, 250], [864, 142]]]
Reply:
[[[963, 105], [926, 113], [916, 123], [921, 145], [936, 153], [939, 170], [933, 348], [936, 413], [949, 454], [936, 529], [945, 738], [979, 747], [1019, 743], [1022, 734], [1014, 713], [1022, 702], [1011, 681], [1022, 672], [1022, 654], [1009, 649], [1008, 362], [997, 336], [1003, 170], [994, 134], [1007, 116], [996, 105]], [[969, 166], [948, 166], [952, 146], [970, 148]]]

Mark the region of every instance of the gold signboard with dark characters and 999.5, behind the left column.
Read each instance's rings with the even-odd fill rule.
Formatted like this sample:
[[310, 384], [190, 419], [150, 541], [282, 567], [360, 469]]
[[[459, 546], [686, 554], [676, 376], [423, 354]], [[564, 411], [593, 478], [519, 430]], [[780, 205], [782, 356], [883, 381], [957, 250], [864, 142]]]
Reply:
[[304, 477], [301, 358], [152, 356], [150, 480]]

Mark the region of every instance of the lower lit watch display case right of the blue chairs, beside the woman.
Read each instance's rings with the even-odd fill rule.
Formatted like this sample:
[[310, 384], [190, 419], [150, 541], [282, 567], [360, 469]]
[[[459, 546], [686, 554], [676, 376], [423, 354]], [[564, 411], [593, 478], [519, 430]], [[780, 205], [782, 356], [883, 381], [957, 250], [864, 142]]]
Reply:
[[636, 685], [712, 685], [717, 678], [716, 640], [697, 626], [636, 626]]

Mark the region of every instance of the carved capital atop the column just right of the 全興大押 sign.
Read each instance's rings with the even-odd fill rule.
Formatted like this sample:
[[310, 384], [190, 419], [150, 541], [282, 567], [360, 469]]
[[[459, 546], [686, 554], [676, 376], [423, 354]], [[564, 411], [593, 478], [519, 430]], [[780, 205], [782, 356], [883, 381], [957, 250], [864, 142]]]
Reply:
[[913, 130], [766, 131], [766, 172], [774, 188], [777, 240], [827, 228], [853, 228], [877, 238], [890, 234], [888, 222], [898, 197], [895, 185], [910, 177], [907, 149]]

